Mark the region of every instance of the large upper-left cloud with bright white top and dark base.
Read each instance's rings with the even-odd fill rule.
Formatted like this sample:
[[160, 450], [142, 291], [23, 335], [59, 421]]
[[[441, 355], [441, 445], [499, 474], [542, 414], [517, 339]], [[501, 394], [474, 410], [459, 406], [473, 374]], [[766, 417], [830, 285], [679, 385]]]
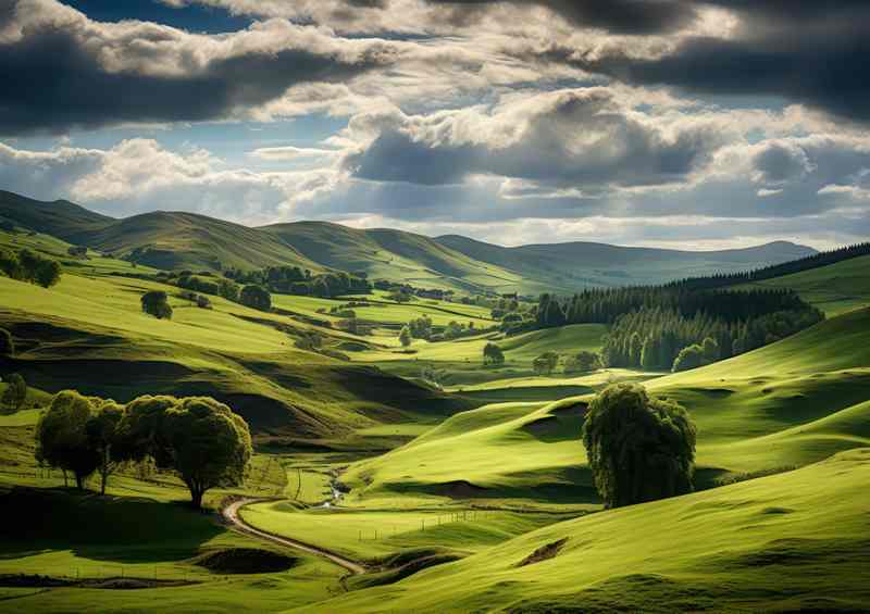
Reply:
[[294, 85], [346, 80], [396, 46], [286, 21], [223, 36], [141, 22], [97, 23], [53, 0], [17, 0], [0, 37], [0, 134], [244, 114]]

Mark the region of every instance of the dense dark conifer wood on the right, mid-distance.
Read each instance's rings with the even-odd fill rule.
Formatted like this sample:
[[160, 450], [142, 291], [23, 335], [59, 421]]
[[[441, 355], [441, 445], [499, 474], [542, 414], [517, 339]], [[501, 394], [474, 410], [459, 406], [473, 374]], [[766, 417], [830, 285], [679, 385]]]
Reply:
[[[645, 371], [728, 359], [824, 318], [793, 290], [674, 286], [588, 289], [567, 301], [542, 295], [536, 315], [542, 328], [610, 325], [601, 352], [605, 364]], [[678, 361], [686, 349], [691, 349], [688, 354]]]

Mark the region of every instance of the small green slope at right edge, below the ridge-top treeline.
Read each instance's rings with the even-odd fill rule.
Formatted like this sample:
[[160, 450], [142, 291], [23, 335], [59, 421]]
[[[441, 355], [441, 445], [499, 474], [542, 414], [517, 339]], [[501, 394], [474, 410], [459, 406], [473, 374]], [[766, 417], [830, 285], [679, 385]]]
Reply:
[[753, 281], [741, 288], [791, 288], [829, 316], [870, 305], [870, 255]]

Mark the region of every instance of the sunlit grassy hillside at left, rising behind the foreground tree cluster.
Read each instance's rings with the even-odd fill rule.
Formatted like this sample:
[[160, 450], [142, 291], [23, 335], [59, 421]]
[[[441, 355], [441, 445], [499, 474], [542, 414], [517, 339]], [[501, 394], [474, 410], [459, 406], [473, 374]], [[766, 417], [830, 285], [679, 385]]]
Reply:
[[[141, 313], [150, 289], [173, 296], [171, 321]], [[335, 439], [356, 428], [458, 409], [444, 394], [369, 366], [297, 350], [307, 325], [212, 297], [212, 310], [176, 288], [124, 277], [64, 275], [46, 290], [0, 278], [0, 324], [20, 349], [9, 371], [53, 392], [76, 388], [127, 401], [142, 393], [209, 394], [261, 434]], [[340, 337], [339, 337], [340, 338]], [[439, 414], [442, 415], [442, 414]]]

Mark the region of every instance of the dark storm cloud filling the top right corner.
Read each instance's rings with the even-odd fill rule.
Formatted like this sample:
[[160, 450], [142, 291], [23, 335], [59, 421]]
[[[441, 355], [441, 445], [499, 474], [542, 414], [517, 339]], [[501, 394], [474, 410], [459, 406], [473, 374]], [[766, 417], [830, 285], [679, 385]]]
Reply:
[[687, 37], [658, 58], [621, 50], [589, 59], [554, 45], [538, 57], [634, 85], [709, 95], [772, 96], [870, 121], [870, 2], [714, 0], [741, 25], [733, 38]]

